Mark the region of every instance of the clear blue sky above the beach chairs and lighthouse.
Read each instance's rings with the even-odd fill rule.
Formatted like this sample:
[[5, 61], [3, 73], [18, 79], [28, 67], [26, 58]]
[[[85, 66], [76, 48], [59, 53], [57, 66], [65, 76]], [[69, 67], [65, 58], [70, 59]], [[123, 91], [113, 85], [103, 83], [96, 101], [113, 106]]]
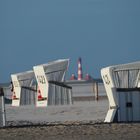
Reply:
[[0, 0], [0, 83], [69, 58], [67, 79], [140, 60], [140, 0]]

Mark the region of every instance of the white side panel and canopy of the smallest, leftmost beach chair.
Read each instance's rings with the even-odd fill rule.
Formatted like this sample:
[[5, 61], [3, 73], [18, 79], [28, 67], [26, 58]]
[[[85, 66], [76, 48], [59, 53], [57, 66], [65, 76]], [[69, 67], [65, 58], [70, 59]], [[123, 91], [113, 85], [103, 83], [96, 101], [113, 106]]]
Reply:
[[11, 75], [13, 84], [12, 105], [20, 106], [22, 88], [32, 87], [35, 80], [33, 71], [26, 71]]

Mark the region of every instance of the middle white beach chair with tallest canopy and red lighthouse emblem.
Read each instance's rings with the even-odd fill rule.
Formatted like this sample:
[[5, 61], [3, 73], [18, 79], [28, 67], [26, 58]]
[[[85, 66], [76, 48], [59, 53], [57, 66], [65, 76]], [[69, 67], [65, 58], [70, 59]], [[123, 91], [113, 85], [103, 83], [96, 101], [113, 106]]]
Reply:
[[59, 84], [59, 82], [64, 81], [68, 65], [69, 59], [60, 59], [33, 67], [38, 83], [37, 106], [40, 107], [47, 106], [48, 104], [56, 104], [54, 103], [54, 100], [58, 101], [60, 98], [64, 97], [57, 96], [59, 96], [61, 93], [68, 95], [67, 91], [64, 91], [64, 87], [66, 86], [60, 86]]

